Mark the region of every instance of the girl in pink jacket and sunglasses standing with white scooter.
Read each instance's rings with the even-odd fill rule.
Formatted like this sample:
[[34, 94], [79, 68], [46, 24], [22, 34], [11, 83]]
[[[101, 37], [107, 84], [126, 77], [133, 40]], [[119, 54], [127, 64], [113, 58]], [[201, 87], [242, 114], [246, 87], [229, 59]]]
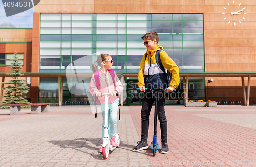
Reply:
[[[95, 62], [97, 62], [98, 66], [100, 66], [99, 75], [96, 75], [96, 71], [98, 70]], [[118, 102], [119, 98], [116, 96], [116, 93], [123, 91], [123, 85], [121, 84], [119, 78], [117, 77], [116, 73], [114, 71], [111, 71], [112, 74], [114, 74], [114, 82], [113, 78], [111, 76], [111, 73], [109, 69], [112, 68], [113, 60], [112, 57], [108, 54], [101, 54], [97, 60], [93, 62], [92, 70], [94, 72], [91, 82], [90, 82], [90, 93], [92, 96], [96, 94], [98, 97], [98, 100], [101, 104], [101, 111], [102, 111], [102, 139], [104, 137], [104, 114], [105, 114], [105, 98], [101, 96], [101, 93], [110, 93], [111, 96], [108, 98], [108, 125], [110, 125], [109, 132], [110, 132], [110, 144], [114, 147], [116, 147], [117, 143], [115, 140], [116, 136], [116, 122], [117, 122], [117, 108], [118, 108]], [[95, 77], [99, 77], [96, 79]], [[97, 88], [96, 81], [99, 81], [99, 87]], [[102, 153], [102, 146], [99, 149], [99, 152]]]

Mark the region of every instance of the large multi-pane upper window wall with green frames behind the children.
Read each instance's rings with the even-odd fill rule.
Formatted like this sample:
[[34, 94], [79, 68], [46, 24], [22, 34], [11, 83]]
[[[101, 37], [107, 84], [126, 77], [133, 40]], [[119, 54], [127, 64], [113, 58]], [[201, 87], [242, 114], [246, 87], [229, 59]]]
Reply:
[[[180, 71], [204, 71], [202, 14], [41, 14], [40, 71], [65, 72], [96, 52], [110, 54], [113, 69], [137, 73], [146, 49], [141, 36], [154, 30]], [[80, 62], [91, 72], [93, 57]]]

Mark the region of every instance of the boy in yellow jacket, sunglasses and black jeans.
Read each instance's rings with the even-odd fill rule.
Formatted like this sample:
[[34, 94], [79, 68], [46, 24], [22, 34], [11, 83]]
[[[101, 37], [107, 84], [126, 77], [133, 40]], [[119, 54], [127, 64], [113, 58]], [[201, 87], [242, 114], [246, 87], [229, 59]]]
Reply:
[[[162, 50], [160, 52], [160, 59], [165, 71], [167, 72], [167, 70], [169, 70], [170, 73], [172, 73], [172, 80], [170, 81], [168, 88], [166, 87], [166, 92], [173, 92], [173, 90], [180, 83], [179, 68], [175, 62], [170, 59], [168, 54], [164, 51], [163, 47], [158, 44], [159, 36], [157, 32], [148, 32], [141, 38], [144, 40], [144, 45], [147, 48], [147, 57], [145, 59], [145, 53], [140, 62], [140, 69], [138, 73], [138, 86], [140, 91], [144, 92], [141, 109], [141, 140], [138, 141], [138, 145], [136, 147], [132, 148], [132, 151], [140, 151], [148, 148], [147, 135], [149, 116], [152, 105], [155, 101], [155, 97], [150, 91], [145, 91], [145, 88], [147, 87], [152, 90], [160, 90], [165, 88], [164, 84], [166, 84], [166, 77], [164, 72], [160, 69], [156, 62], [155, 56], [157, 50]], [[168, 153], [169, 148], [167, 144], [167, 120], [164, 111], [165, 92], [158, 92], [157, 97], [157, 115], [160, 122], [162, 139], [161, 153]]]

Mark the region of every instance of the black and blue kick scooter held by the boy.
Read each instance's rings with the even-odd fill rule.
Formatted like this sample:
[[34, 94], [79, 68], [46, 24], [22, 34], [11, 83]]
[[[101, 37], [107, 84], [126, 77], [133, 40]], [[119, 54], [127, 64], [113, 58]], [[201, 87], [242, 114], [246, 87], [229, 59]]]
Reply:
[[[137, 90], [140, 90], [139, 88], [137, 88]], [[157, 92], [162, 92], [164, 91], [164, 89], [162, 90], [152, 90], [152, 89], [148, 89], [146, 88], [145, 90], [150, 90], [153, 94], [153, 96], [155, 96], [155, 112], [154, 112], [154, 135], [153, 135], [153, 141], [150, 144], [150, 148], [153, 151], [153, 156], [156, 155], [156, 151], [159, 149], [159, 144], [157, 142], [157, 97], [156, 94]], [[167, 89], [165, 89], [166, 91]], [[173, 90], [173, 92], [176, 91], [176, 89]]]

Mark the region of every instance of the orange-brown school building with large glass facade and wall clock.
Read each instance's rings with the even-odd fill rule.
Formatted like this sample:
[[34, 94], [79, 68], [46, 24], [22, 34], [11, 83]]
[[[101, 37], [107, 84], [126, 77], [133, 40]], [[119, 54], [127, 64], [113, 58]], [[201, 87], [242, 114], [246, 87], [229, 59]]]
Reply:
[[[167, 104], [202, 99], [251, 105], [256, 100], [255, 7], [252, 0], [44, 0], [33, 8], [33, 25], [0, 25], [0, 77], [8, 80], [5, 73], [16, 51], [24, 77], [31, 78], [30, 102], [86, 105], [88, 93], [70, 92], [66, 70], [90, 76], [95, 53], [107, 53], [113, 70], [123, 74], [123, 104], [140, 104], [134, 85], [146, 52], [141, 36], [154, 30], [180, 69], [180, 85], [166, 97]], [[84, 92], [89, 82], [84, 81]]]

